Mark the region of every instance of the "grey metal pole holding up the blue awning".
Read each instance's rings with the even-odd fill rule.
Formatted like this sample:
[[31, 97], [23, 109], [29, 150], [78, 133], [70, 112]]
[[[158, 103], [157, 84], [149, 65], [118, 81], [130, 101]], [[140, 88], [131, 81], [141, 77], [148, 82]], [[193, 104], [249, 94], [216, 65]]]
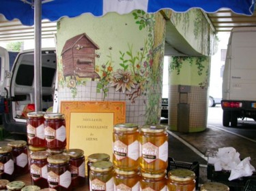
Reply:
[[35, 111], [42, 111], [42, 1], [35, 0], [34, 12], [34, 90], [35, 90]]

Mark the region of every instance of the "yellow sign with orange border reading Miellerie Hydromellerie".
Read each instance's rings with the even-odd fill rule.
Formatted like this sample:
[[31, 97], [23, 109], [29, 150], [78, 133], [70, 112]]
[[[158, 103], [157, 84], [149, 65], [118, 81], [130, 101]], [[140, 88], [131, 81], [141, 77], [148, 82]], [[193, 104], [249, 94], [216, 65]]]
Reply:
[[66, 119], [67, 149], [81, 149], [85, 156], [94, 153], [113, 155], [113, 126], [126, 119], [125, 102], [61, 101]]

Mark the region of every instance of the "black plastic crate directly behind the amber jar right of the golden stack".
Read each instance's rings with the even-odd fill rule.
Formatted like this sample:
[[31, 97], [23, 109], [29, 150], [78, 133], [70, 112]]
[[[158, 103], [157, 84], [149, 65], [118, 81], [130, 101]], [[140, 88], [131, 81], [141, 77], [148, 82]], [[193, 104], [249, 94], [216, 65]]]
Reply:
[[181, 162], [181, 161], [175, 161], [173, 158], [168, 158], [168, 167], [167, 171], [171, 171], [173, 169], [188, 169], [190, 171], [193, 171], [195, 173], [195, 186], [198, 190], [198, 183], [199, 183], [199, 162]]

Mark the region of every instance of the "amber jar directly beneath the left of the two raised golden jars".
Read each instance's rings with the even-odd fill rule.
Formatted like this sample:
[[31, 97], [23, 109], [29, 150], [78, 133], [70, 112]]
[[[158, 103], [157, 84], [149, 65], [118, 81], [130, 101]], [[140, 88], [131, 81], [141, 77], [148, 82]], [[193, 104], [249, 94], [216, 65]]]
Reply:
[[139, 171], [122, 171], [119, 169], [115, 169], [115, 190], [139, 191], [139, 181]]

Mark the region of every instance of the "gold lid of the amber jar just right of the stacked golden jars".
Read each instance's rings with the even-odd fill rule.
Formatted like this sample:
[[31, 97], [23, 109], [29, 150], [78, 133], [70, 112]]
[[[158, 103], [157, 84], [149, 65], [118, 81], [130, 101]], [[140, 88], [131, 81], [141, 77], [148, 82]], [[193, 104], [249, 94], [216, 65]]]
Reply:
[[176, 181], [189, 181], [195, 179], [195, 173], [188, 169], [174, 169], [169, 171], [168, 177]]

